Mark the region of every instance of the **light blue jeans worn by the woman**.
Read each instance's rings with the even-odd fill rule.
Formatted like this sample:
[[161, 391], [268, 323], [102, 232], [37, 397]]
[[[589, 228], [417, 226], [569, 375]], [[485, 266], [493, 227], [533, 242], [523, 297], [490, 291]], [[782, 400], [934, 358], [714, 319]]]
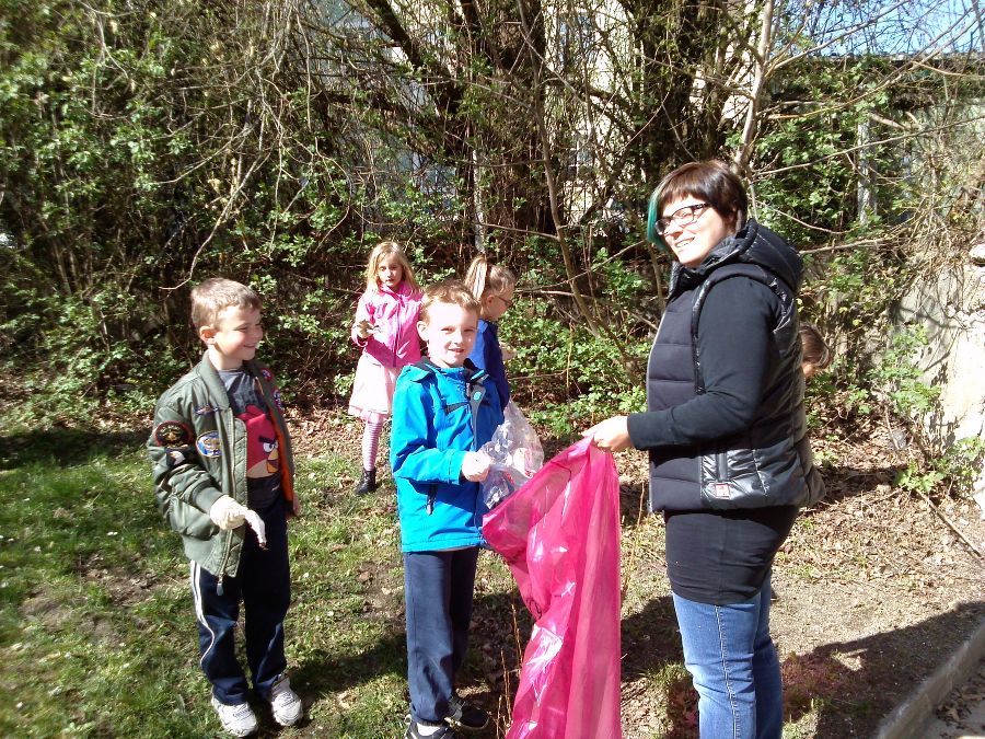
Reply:
[[711, 605], [674, 596], [703, 739], [779, 739], [784, 695], [769, 636], [769, 576], [753, 598]]

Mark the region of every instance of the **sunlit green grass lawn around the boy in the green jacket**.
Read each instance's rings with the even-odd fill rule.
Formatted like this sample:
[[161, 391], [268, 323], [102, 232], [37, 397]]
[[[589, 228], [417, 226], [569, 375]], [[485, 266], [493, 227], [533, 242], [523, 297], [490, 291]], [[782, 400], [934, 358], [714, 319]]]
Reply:
[[[90, 436], [53, 431], [32, 441], [0, 469], [0, 679], [18, 685], [0, 697], [0, 735], [216, 734], [197, 666], [188, 565], [157, 511], [142, 439], [115, 440], [117, 454]], [[394, 493], [384, 485], [356, 498], [338, 483], [347, 475], [351, 463], [341, 458], [299, 460], [304, 515], [290, 523], [286, 630], [310, 720], [281, 736], [403, 731]], [[491, 555], [483, 561], [478, 589], [512, 594], [506, 567]]]

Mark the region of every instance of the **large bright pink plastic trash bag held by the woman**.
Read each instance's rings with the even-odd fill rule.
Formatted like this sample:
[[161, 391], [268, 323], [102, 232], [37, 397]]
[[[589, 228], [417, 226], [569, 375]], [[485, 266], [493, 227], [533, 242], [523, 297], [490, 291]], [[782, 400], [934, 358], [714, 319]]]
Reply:
[[508, 739], [612, 739], [619, 723], [619, 485], [568, 447], [483, 519], [536, 619]]

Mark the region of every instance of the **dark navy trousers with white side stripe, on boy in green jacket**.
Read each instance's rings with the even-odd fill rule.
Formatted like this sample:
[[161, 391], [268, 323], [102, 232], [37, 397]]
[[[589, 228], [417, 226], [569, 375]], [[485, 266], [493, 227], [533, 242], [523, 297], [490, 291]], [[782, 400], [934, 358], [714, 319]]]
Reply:
[[253, 688], [266, 698], [277, 678], [285, 671], [283, 619], [291, 600], [291, 574], [288, 564], [287, 515], [282, 498], [257, 510], [266, 526], [267, 549], [262, 550], [256, 534], [245, 527], [245, 540], [235, 577], [219, 578], [192, 563], [192, 597], [198, 621], [200, 666], [220, 703], [246, 702], [250, 684], [236, 660], [235, 627], [240, 599], [245, 609], [246, 661]]

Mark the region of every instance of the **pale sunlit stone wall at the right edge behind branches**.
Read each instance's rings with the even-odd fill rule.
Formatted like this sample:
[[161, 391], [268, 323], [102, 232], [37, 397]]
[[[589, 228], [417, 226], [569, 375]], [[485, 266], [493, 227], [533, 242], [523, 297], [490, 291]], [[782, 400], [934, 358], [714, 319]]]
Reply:
[[[947, 447], [985, 436], [985, 244], [972, 249], [965, 264], [915, 282], [892, 319], [927, 331], [917, 363], [925, 382], [941, 391], [938, 411], [923, 419], [929, 437]], [[985, 465], [975, 493], [985, 496]]]

